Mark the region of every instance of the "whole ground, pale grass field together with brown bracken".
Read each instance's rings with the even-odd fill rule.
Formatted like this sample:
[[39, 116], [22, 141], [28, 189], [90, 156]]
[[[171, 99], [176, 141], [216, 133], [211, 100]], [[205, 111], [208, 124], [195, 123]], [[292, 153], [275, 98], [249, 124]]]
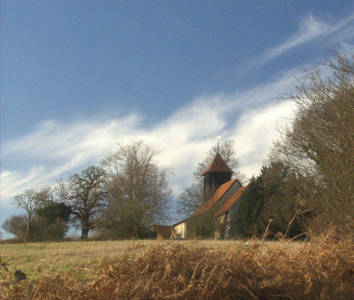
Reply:
[[[354, 243], [120, 241], [1, 245], [4, 299], [354, 298]], [[14, 267], [28, 279], [16, 282]]]

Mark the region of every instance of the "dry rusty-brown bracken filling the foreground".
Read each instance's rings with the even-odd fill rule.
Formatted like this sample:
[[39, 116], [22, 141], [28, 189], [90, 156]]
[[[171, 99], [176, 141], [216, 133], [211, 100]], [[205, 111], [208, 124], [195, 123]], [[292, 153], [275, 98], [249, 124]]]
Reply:
[[350, 239], [331, 235], [301, 247], [253, 242], [229, 250], [154, 242], [141, 255], [130, 249], [95, 268], [19, 283], [6, 277], [1, 293], [4, 299], [353, 299], [353, 249]]

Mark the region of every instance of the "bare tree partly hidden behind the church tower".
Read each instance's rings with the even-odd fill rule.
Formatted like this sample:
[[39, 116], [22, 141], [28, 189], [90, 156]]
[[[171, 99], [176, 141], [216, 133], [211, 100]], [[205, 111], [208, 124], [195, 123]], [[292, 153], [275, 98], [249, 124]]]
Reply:
[[[212, 147], [212, 149], [206, 153], [204, 160], [196, 166], [196, 171], [193, 173], [193, 183], [188, 188], [185, 188], [179, 196], [177, 212], [182, 218], [189, 217], [191, 213], [195, 212], [196, 209], [203, 204], [203, 172], [217, 153], [217, 146]], [[240, 172], [241, 162], [240, 158], [237, 156], [235, 141], [227, 140], [222, 142], [219, 146], [219, 154], [227, 163], [229, 168], [234, 172], [233, 178], [237, 178], [242, 183], [245, 183], [247, 178]]]

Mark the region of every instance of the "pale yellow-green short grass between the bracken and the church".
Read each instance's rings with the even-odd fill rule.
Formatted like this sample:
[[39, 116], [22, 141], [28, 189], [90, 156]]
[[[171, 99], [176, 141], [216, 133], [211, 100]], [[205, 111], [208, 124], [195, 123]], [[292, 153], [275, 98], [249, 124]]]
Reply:
[[[104, 242], [31, 242], [1, 245], [1, 260], [10, 269], [18, 268], [28, 279], [37, 280], [43, 273], [56, 275], [70, 273], [74, 269], [88, 271], [104, 260], [119, 258], [129, 253], [131, 258], [142, 256], [150, 246], [161, 243], [154, 240], [104, 241]], [[163, 241], [169, 244], [169, 241]], [[189, 247], [205, 247], [212, 250], [229, 250], [244, 242], [235, 241], [173, 241]], [[272, 244], [272, 242], [268, 242]]]

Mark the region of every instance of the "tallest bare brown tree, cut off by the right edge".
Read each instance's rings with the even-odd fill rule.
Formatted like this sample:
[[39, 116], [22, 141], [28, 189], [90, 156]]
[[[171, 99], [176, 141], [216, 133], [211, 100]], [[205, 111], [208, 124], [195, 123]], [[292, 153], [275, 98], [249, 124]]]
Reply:
[[[311, 179], [306, 199], [317, 212], [317, 229], [334, 224], [354, 232], [354, 57], [335, 53], [299, 80], [286, 96], [297, 105], [291, 127], [282, 131], [276, 155]], [[313, 182], [315, 187], [313, 187]]]

